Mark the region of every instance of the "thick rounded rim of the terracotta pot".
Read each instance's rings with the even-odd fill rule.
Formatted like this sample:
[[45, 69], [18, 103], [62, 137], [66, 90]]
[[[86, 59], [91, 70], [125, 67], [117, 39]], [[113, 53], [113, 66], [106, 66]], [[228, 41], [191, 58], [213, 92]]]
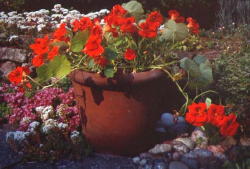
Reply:
[[73, 82], [89, 87], [111, 88], [139, 85], [159, 78], [166, 78], [166, 74], [160, 69], [152, 69], [145, 72], [119, 74], [114, 78], [107, 78], [98, 73], [74, 70], [69, 75]]

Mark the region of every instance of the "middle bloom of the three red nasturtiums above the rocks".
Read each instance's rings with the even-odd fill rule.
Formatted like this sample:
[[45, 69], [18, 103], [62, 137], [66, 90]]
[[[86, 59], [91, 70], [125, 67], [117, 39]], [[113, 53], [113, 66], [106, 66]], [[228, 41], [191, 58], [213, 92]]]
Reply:
[[225, 116], [224, 106], [211, 104], [208, 111], [208, 121], [219, 127], [221, 125], [222, 119]]

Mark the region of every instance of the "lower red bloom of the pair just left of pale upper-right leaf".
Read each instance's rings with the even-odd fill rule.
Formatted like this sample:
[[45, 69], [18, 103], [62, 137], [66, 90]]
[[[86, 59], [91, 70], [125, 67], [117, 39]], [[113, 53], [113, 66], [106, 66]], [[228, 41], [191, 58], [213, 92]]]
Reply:
[[139, 35], [145, 38], [154, 38], [157, 36], [157, 30], [154, 25], [150, 25], [148, 22], [143, 22], [140, 25]]

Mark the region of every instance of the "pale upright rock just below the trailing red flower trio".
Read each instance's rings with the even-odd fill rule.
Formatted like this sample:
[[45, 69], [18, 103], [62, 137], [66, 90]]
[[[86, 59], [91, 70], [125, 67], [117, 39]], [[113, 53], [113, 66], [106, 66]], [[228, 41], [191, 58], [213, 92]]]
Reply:
[[208, 138], [206, 134], [199, 128], [196, 128], [191, 134], [191, 140], [194, 141], [199, 148], [206, 148]]

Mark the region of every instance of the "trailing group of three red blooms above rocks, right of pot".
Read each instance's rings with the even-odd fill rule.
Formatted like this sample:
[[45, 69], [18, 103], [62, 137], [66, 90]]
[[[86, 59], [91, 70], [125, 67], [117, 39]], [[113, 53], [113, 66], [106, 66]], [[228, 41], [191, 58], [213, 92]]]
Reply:
[[186, 121], [194, 126], [203, 126], [210, 123], [218, 127], [223, 136], [235, 135], [239, 127], [235, 114], [225, 115], [224, 106], [215, 104], [211, 104], [209, 108], [205, 103], [189, 105]]

